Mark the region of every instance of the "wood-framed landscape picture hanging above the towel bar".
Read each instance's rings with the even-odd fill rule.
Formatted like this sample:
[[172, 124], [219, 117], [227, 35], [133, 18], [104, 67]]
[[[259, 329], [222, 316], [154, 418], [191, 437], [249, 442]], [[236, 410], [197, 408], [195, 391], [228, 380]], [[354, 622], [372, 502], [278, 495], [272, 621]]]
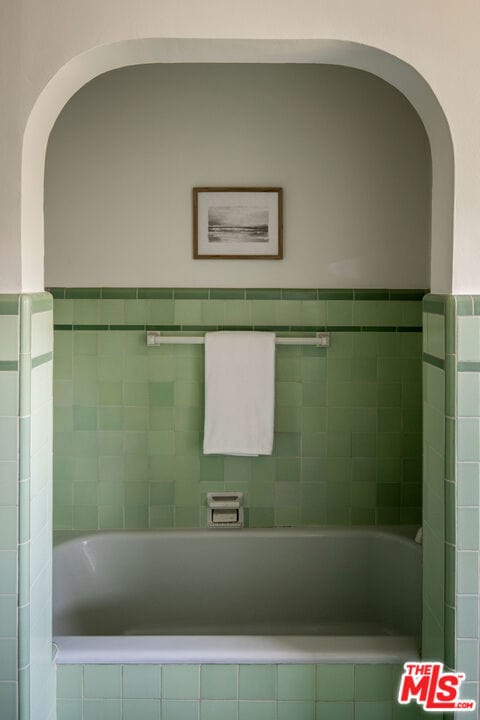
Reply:
[[281, 188], [194, 188], [193, 257], [281, 260]]

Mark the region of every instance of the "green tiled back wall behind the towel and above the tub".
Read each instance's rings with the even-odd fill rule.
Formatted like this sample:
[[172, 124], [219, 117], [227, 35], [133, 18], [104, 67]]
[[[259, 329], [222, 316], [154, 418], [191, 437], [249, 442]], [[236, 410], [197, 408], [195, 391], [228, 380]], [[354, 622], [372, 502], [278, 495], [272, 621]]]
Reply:
[[[56, 529], [204, 526], [223, 489], [251, 526], [420, 521], [423, 291], [52, 294]], [[147, 327], [328, 328], [332, 345], [277, 348], [272, 457], [204, 457], [203, 347], [147, 348]]]

